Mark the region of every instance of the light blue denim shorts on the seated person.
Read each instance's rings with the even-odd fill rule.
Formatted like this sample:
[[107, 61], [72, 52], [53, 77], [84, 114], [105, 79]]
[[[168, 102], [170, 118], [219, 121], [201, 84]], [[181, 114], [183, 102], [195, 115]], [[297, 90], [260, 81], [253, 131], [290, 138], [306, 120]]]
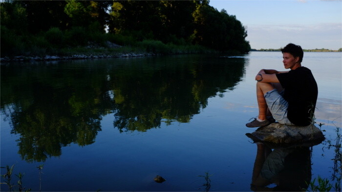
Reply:
[[280, 124], [285, 125], [294, 125], [287, 118], [287, 107], [289, 106], [288, 102], [282, 97], [284, 92], [278, 92], [277, 89], [267, 92], [264, 97], [266, 99], [266, 103], [268, 108], [275, 118]]

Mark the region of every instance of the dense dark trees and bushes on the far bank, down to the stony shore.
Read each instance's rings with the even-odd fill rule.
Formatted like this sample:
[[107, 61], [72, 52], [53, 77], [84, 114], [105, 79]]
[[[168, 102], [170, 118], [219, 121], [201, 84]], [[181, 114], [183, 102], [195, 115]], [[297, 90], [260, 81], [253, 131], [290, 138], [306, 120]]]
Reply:
[[43, 55], [88, 41], [105, 46], [107, 40], [250, 51], [241, 22], [208, 0], [4, 0], [0, 9], [1, 57]]

